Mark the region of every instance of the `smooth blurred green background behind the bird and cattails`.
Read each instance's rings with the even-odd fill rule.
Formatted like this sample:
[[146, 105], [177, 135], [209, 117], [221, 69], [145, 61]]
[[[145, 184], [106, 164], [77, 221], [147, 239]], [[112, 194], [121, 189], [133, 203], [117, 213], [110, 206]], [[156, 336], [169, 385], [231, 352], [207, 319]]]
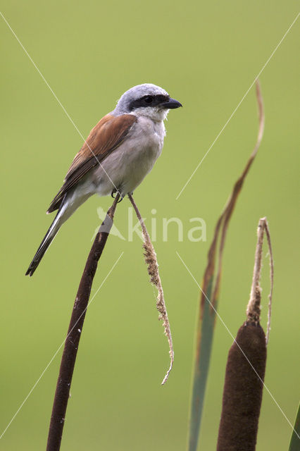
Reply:
[[[124, 252], [90, 306], [78, 352], [62, 450], [185, 450], [199, 290], [215, 221], [256, 141], [254, 89], [180, 198], [197, 163], [254, 81], [296, 14], [296, 1], [6, 1], [2, 13], [82, 135], [126, 89], [165, 87], [183, 109], [171, 111], [154, 171], [135, 192], [160, 264], [175, 364], [165, 387], [168, 345], [157, 321], [141, 241], [110, 237], [92, 293]], [[244, 321], [256, 245], [267, 216], [275, 257], [272, 330], [265, 383], [294, 423], [299, 385], [299, 252], [296, 239], [299, 150], [299, 20], [261, 75], [265, 136], [230, 224], [219, 313], [236, 333]], [[39, 378], [68, 328], [77, 285], [99, 224], [93, 197], [63, 226], [33, 278], [25, 270], [49, 227], [45, 211], [82, 140], [1, 19], [1, 431]], [[115, 225], [127, 233], [125, 199]], [[151, 210], [156, 209], [156, 214]], [[200, 216], [207, 242], [189, 242], [189, 218]], [[162, 218], [182, 220], [163, 242]], [[266, 250], [265, 250], [266, 254]], [[263, 325], [269, 290], [264, 259]], [[201, 450], [214, 450], [227, 350], [217, 322]], [[0, 442], [3, 450], [46, 445], [61, 352]], [[285, 450], [291, 427], [265, 391], [257, 450]]]

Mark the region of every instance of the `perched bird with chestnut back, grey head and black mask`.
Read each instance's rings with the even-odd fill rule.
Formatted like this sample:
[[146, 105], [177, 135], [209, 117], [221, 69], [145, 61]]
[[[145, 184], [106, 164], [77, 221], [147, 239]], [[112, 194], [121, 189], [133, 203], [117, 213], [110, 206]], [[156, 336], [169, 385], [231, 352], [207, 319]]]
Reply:
[[142, 183], [161, 155], [164, 121], [182, 104], [165, 89], [144, 83], [128, 89], [115, 109], [92, 128], [73, 159], [47, 214], [57, 211], [25, 275], [32, 276], [63, 223], [92, 194], [123, 199]]

